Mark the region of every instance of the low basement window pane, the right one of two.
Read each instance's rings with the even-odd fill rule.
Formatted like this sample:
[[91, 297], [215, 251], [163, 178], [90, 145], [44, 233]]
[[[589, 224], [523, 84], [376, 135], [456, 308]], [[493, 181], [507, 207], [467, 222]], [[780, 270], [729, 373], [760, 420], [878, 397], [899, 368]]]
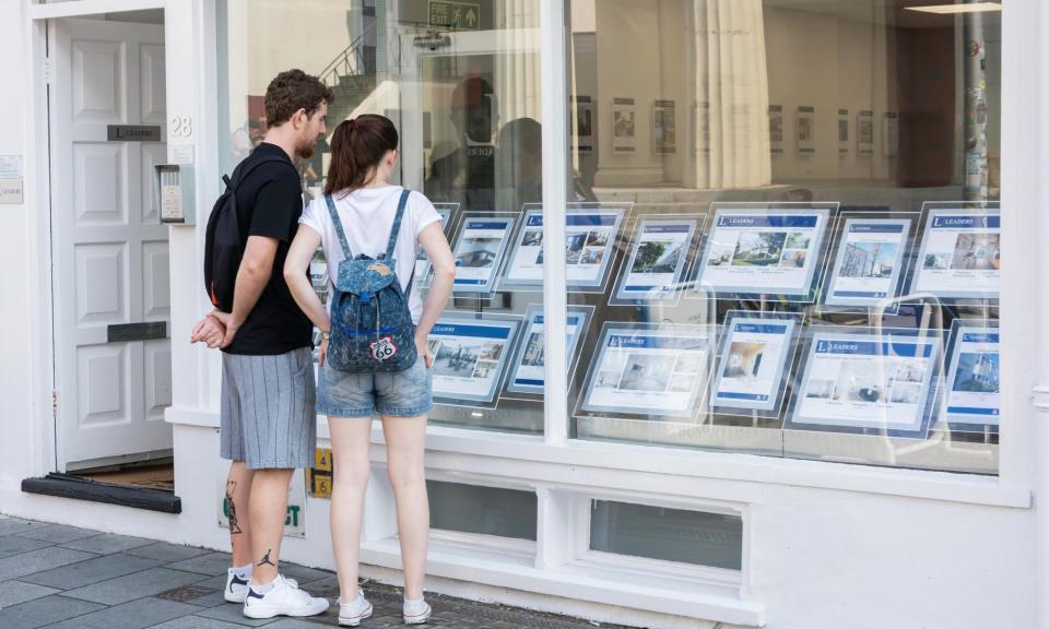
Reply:
[[743, 562], [743, 520], [593, 500], [590, 549], [739, 570]]

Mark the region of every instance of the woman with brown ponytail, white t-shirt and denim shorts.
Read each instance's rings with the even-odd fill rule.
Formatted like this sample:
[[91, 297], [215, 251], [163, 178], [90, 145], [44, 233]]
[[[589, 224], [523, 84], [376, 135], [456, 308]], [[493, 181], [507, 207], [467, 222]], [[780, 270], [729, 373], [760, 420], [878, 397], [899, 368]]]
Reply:
[[[397, 162], [398, 133], [382, 116], [365, 115], [343, 121], [331, 139], [331, 165], [325, 198], [309, 203], [299, 219], [284, 265], [284, 277], [299, 308], [320, 329], [320, 375], [317, 411], [328, 416], [334, 460], [331, 494], [331, 539], [339, 570], [339, 624], [355, 627], [372, 615], [372, 604], [357, 586], [361, 522], [370, 464], [372, 415], [378, 413], [386, 438], [390, 484], [397, 502], [397, 525], [404, 570], [404, 622], [419, 625], [431, 615], [423, 598], [429, 503], [423, 464], [426, 415], [433, 407], [427, 336], [445, 308], [456, 275], [440, 215], [419, 192], [408, 197], [397, 237], [393, 272], [409, 298], [415, 323], [419, 359], [403, 371], [350, 373], [327, 365], [330, 317], [314, 292], [307, 270], [322, 247], [329, 276], [345, 259], [326, 198], [333, 201], [349, 249], [354, 256], [385, 253], [403, 188], [390, 183]], [[426, 251], [433, 278], [425, 302], [413, 277], [419, 247]], [[329, 281], [329, 289], [333, 285]]]

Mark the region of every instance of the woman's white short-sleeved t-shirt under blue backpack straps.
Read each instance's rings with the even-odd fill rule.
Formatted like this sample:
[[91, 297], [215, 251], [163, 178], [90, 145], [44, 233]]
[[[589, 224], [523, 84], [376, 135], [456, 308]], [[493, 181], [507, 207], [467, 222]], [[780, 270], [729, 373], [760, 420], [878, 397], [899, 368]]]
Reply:
[[[342, 222], [342, 229], [346, 233], [346, 240], [350, 242], [350, 253], [354, 258], [362, 253], [372, 258], [386, 253], [402, 190], [404, 189], [400, 186], [358, 188], [350, 194], [343, 195], [337, 192], [332, 197], [335, 211], [339, 212], [339, 221]], [[331, 222], [325, 198], [318, 197], [310, 201], [298, 222], [320, 234], [320, 246], [328, 260], [328, 288], [333, 288], [334, 280], [339, 274], [339, 263], [345, 260], [345, 254], [342, 252], [342, 245], [339, 244], [339, 235]], [[408, 282], [415, 271], [419, 235], [433, 223], [440, 223], [440, 214], [434, 209], [429, 199], [412, 191], [408, 195], [404, 218], [401, 221], [401, 233], [393, 248], [393, 260], [397, 262], [393, 272], [401, 281], [401, 289], [408, 288]], [[423, 300], [419, 296], [420, 281], [422, 277], [415, 277], [412, 283], [412, 294], [408, 300], [412, 320], [415, 323], [419, 323], [419, 318], [423, 314]]]

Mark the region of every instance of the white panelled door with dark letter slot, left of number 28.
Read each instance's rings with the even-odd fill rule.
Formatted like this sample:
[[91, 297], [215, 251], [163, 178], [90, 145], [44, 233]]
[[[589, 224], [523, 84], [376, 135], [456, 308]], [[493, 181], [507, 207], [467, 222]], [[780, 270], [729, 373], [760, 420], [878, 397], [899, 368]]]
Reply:
[[[56, 456], [64, 471], [172, 448], [167, 227], [152, 201], [153, 164], [166, 161], [164, 27], [60, 20], [50, 34]], [[158, 127], [161, 141], [109, 140], [113, 124]]]

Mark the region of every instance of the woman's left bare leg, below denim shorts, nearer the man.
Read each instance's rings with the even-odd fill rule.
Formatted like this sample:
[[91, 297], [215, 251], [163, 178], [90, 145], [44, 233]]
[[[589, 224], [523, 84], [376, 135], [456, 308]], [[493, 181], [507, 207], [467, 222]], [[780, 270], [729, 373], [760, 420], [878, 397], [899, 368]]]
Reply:
[[331, 459], [334, 474], [331, 485], [331, 545], [339, 572], [339, 600], [357, 597], [361, 556], [361, 521], [364, 517], [364, 490], [368, 486], [370, 463], [368, 442], [372, 418], [329, 417]]

